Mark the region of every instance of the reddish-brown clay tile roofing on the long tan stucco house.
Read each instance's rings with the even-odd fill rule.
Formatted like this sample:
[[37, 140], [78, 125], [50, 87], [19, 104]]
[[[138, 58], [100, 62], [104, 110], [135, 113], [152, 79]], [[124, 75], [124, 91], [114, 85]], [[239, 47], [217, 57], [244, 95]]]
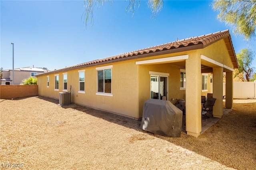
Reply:
[[[53, 70], [53, 71], [50, 71], [50, 72], [47, 72], [47, 73], [50, 74], [50, 73], [54, 73], [54, 72], [61, 72], [61, 71], [64, 71], [64, 70], [71, 70], [71, 69], [75, 69], [77, 67], [84, 67], [84, 66], [92, 65], [92, 64], [104, 64], [104, 62], [107, 62], [107, 61], [115, 62], [115, 60], [118, 61], [118, 59], [120, 60], [120, 59], [124, 59], [124, 58], [127, 58], [127, 57], [128, 58], [132, 57], [132, 56], [138, 56], [139, 57], [139, 55], [143, 55], [143, 54], [154, 53], [154, 52], [158, 52], [158, 51], [178, 49], [178, 48], [188, 47], [188, 46], [192, 46], [192, 45], [202, 45], [200, 48], [204, 48], [204, 47], [207, 47], [208, 45], [210, 45], [210, 44], [212, 44], [216, 41], [219, 41], [220, 39], [226, 38], [226, 37], [230, 37], [229, 42], [231, 43], [231, 49], [228, 49], [228, 50], [231, 51], [230, 55], [234, 56], [234, 58], [235, 58], [234, 62], [237, 63], [236, 57], [235, 57], [235, 52], [234, 52], [234, 49], [233, 49], [233, 44], [232, 44], [232, 41], [231, 41], [230, 33], [229, 33], [228, 30], [224, 30], [224, 31], [216, 32], [216, 33], [210, 33], [210, 34], [201, 35], [201, 36], [198, 36], [198, 37], [190, 37], [190, 38], [182, 39], [182, 40], [179, 40], [179, 41], [173, 41], [173, 42], [165, 43], [165, 44], [162, 44], [162, 45], [156, 45], [156, 46], [148, 47], [148, 48], [145, 48], [145, 49], [131, 51], [131, 52], [128, 52], [128, 53], [123, 53], [123, 54], [120, 54], [120, 55], [115, 55], [115, 56], [107, 57], [107, 58], [104, 58], [104, 59], [98, 59], [98, 60], [94, 60], [94, 61], [90, 61], [90, 62], [86, 62], [86, 63], [76, 64], [74, 66], [69, 66], [69, 67], [66, 67], [66, 68]], [[185, 49], [184, 49], [184, 51], [185, 51]], [[46, 74], [46, 73], [42, 73], [42, 74]], [[38, 74], [37, 76], [42, 75], [42, 74]]]

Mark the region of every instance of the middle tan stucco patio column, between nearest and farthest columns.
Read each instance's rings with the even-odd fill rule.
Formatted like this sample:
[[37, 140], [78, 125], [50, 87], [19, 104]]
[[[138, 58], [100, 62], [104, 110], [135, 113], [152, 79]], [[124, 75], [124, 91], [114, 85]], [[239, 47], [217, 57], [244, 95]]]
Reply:
[[221, 118], [223, 115], [223, 67], [213, 68], [213, 98], [216, 98], [213, 106], [213, 117]]

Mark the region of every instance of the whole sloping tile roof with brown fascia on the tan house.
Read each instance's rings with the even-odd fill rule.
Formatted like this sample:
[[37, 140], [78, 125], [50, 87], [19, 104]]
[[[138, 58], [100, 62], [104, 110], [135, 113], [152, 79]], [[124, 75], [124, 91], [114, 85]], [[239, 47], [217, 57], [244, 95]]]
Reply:
[[208, 35], [202, 35], [199, 37], [191, 37], [191, 38], [182, 39], [179, 41], [174, 41], [171, 43], [156, 45], [156, 46], [148, 47], [145, 49], [140, 49], [140, 50], [131, 51], [128, 53], [123, 53], [120, 55], [115, 55], [112, 57], [107, 57], [104, 59], [98, 59], [98, 60], [94, 60], [94, 61], [90, 61], [90, 62], [86, 62], [86, 63], [81, 63], [81, 64], [77, 64], [74, 66], [69, 66], [66, 68], [53, 70], [53, 71], [50, 71], [47, 73], [37, 74], [36, 76], [50, 74], [50, 73], [56, 73], [56, 72], [62, 72], [65, 70], [72, 70], [75, 68], [85, 67], [85, 66], [90, 66], [90, 65], [107, 64], [107, 63], [113, 63], [113, 62], [117, 62], [117, 61], [128, 60], [128, 59], [150, 57], [150, 56], [154, 56], [154, 55], [162, 55], [162, 54], [168, 54], [168, 53], [177, 53], [177, 52], [188, 51], [188, 50], [193, 50], [193, 49], [202, 49], [202, 48], [207, 47], [208, 45], [211, 45], [212, 43], [215, 43], [216, 41], [219, 41], [220, 39], [225, 40], [226, 47], [228, 49], [228, 53], [230, 55], [230, 59], [234, 65], [234, 68], [238, 68], [236, 54], [235, 54], [235, 51], [233, 48], [230, 33], [228, 30], [224, 30], [224, 31], [216, 32], [216, 33], [211, 33]]

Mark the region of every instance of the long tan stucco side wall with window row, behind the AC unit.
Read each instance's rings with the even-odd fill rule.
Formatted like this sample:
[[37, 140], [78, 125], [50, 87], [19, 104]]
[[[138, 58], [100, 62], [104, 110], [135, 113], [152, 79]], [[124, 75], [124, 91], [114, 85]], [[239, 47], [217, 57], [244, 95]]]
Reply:
[[[113, 113], [138, 117], [138, 66], [135, 61], [123, 61], [120, 63], [105, 64], [112, 67], [112, 95], [97, 95], [97, 70], [96, 67], [86, 67], [76, 70], [64, 71], [68, 76], [68, 91], [71, 88], [71, 102], [84, 106], [94, 107]], [[85, 92], [79, 91], [78, 70], [85, 70]], [[55, 76], [59, 75], [59, 90], [55, 88]], [[38, 76], [38, 95], [50, 98], [59, 98], [59, 92], [63, 92], [63, 72], [49, 74], [49, 87], [47, 87], [47, 75]]]

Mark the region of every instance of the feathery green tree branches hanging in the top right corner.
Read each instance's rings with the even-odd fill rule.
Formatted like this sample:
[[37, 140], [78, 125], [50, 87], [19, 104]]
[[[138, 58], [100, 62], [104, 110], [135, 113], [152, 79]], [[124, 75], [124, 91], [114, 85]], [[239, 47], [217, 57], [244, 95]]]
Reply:
[[220, 12], [218, 19], [230, 25], [234, 33], [246, 39], [255, 36], [256, 0], [214, 0], [212, 7]]

